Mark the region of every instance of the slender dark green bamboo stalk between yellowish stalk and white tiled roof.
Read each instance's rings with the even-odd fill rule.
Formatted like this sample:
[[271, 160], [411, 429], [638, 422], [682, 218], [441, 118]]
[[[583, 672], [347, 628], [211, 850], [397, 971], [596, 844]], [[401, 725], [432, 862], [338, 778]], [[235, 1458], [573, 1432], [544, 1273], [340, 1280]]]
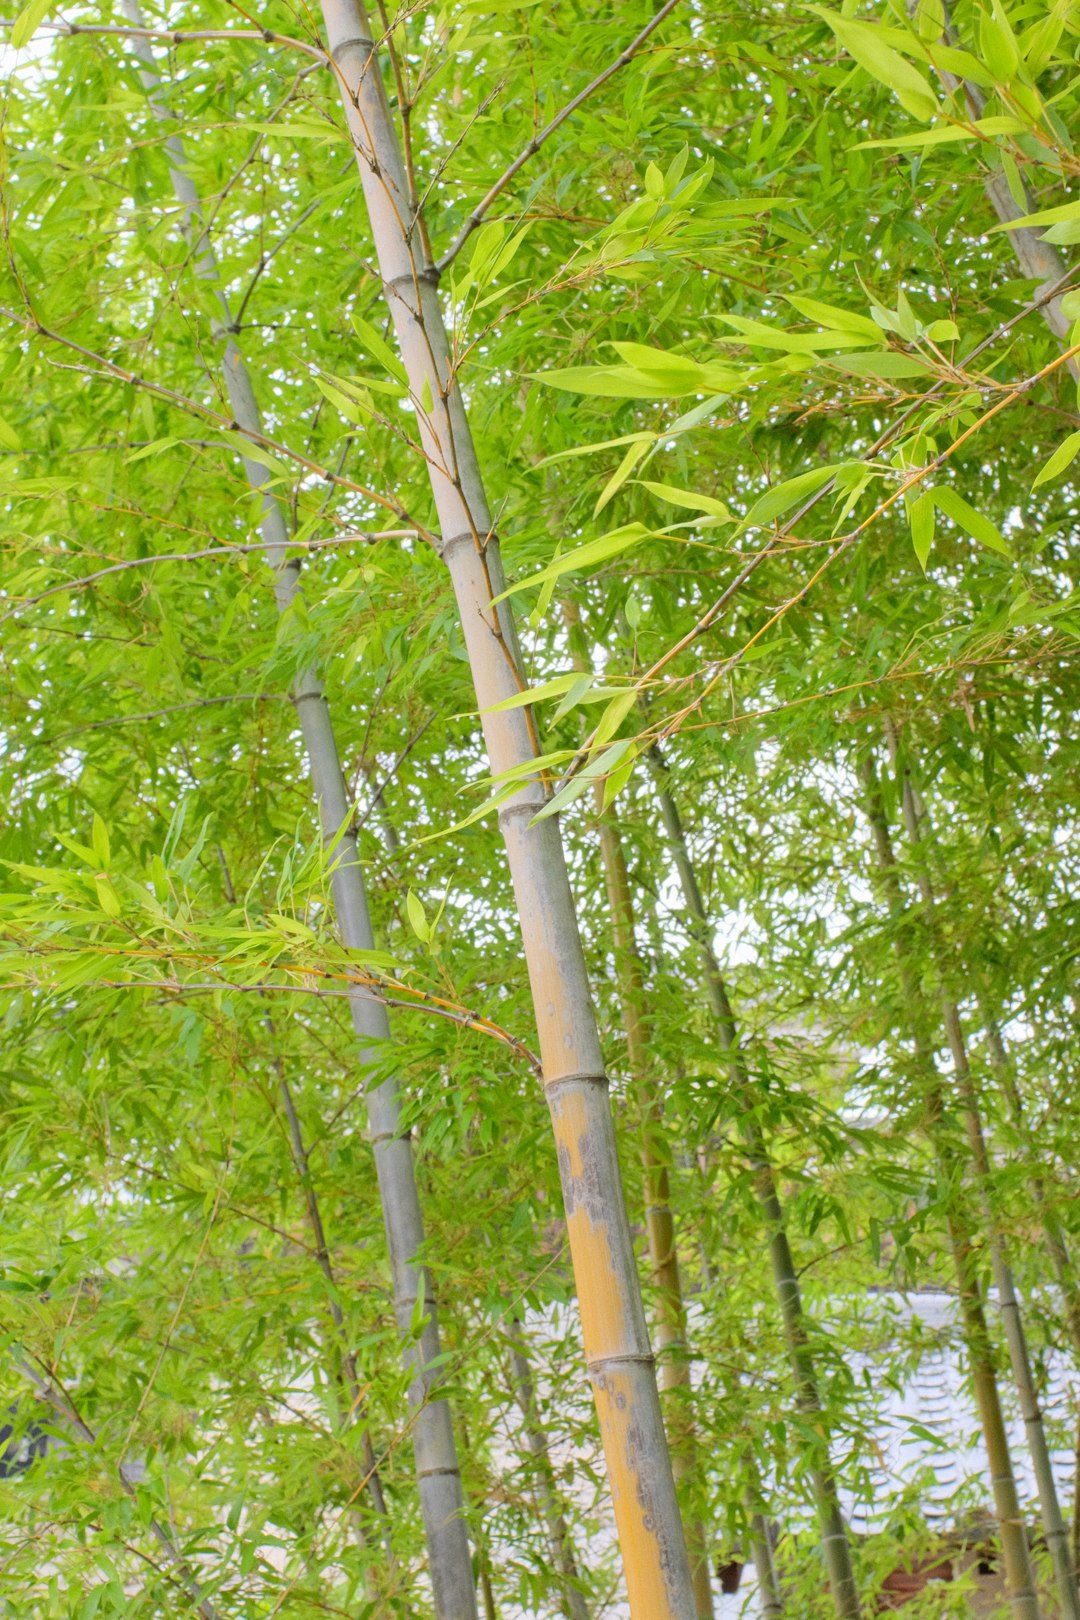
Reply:
[[[687, 930], [701, 961], [706, 996], [721, 1045], [724, 1047], [730, 1082], [738, 1097], [748, 1098], [750, 1074], [746, 1069], [746, 1059], [738, 1040], [738, 1027], [735, 1024], [732, 1004], [727, 998], [727, 987], [724, 983], [721, 964], [716, 951], [712, 949], [712, 935], [706, 917], [704, 901], [701, 897], [698, 875], [690, 857], [690, 846], [687, 844], [687, 834], [683, 831], [678, 805], [675, 804], [670, 791], [667, 765], [657, 748], [649, 750], [646, 758], [656, 787], [667, 842], [678, 873], [683, 904], [687, 907]], [[858, 1617], [860, 1614], [858, 1588], [852, 1565], [852, 1545], [844, 1524], [844, 1515], [840, 1513], [836, 1474], [832, 1473], [832, 1463], [829, 1460], [826, 1416], [821, 1395], [818, 1392], [818, 1372], [814, 1367], [813, 1349], [810, 1346], [810, 1336], [806, 1333], [803, 1298], [798, 1286], [798, 1273], [795, 1270], [792, 1247], [787, 1238], [784, 1209], [780, 1205], [776, 1174], [764, 1137], [748, 1111], [743, 1111], [740, 1129], [746, 1158], [753, 1173], [758, 1209], [761, 1210], [767, 1236], [772, 1283], [780, 1307], [784, 1343], [787, 1346], [792, 1377], [795, 1380], [795, 1395], [800, 1409], [808, 1419], [806, 1426], [814, 1434], [813, 1452], [808, 1460], [810, 1479], [814, 1497], [814, 1511], [818, 1516], [821, 1552], [829, 1575], [829, 1591], [840, 1620], [852, 1620], [852, 1617]]]

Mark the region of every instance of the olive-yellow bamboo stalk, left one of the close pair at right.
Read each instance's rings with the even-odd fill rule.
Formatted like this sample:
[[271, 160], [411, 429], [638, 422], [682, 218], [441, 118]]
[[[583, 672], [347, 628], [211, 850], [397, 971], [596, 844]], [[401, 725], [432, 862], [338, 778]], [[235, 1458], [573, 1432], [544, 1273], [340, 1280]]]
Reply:
[[963, 1338], [972, 1367], [972, 1387], [975, 1390], [975, 1403], [980, 1413], [980, 1427], [983, 1430], [983, 1443], [986, 1447], [986, 1460], [989, 1464], [994, 1515], [997, 1518], [997, 1533], [1001, 1536], [1001, 1554], [1006, 1571], [1006, 1588], [1015, 1620], [1040, 1620], [1040, 1602], [1035, 1591], [1035, 1576], [1031, 1573], [1028, 1536], [1023, 1515], [1020, 1511], [1020, 1495], [1017, 1492], [1012, 1458], [1009, 1455], [1009, 1439], [1001, 1411], [997, 1374], [994, 1371], [993, 1346], [986, 1328], [986, 1312], [978, 1281], [978, 1268], [975, 1265], [975, 1256], [972, 1252], [972, 1243], [967, 1236], [965, 1223], [959, 1213], [959, 1196], [963, 1176], [957, 1163], [957, 1155], [941, 1131], [941, 1119], [946, 1113], [946, 1105], [941, 1082], [938, 1079], [938, 1069], [934, 1066], [934, 1056], [925, 1034], [925, 1000], [910, 959], [912, 919], [900, 883], [895, 852], [892, 849], [889, 821], [886, 818], [881, 791], [878, 787], [873, 761], [870, 758], [861, 761], [860, 776], [866, 794], [866, 816], [878, 855], [878, 876], [884, 897], [889, 904], [889, 910], [895, 919], [892, 948], [897, 956], [904, 1004], [913, 1021], [912, 1034], [918, 1084], [929, 1116], [928, 1134], [946, 1183], [946, 1225], [957, 1270], [957, 1291], [963, 1317]]

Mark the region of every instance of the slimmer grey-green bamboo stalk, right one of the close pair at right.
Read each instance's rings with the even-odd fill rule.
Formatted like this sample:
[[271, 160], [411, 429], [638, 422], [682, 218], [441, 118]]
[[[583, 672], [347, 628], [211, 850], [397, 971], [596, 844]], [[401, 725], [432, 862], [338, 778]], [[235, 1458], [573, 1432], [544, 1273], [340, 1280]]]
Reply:
[[[895, 744], [895, 737], [892, 734], [891, 740]], [[912, 844], [912, 849], [916, 852], [915, 875], [916, 875], [918, 891], [933, 930], [936, 897], [929, 876], [929, 868], [926, 865], [926, 859], [921, 849], [926, 812], [916, 802], [915, 784], [912, 782], [912, 774], [910, 770], [907, 768], [904, 770], [904, 781], [900, 787], [900, 807], [904, 813], [904, 825], [907, 828], [908, 841]], [[1043, 1424], [1038, 1388], [1035, 1385], [1035, 1375], [1031, 1372], [1031, 1358], [1028, 1354], [1027, 1336], [1023, 1332], [1020, 1301], [1017, 1299], [1012, 1267], [1009, 1265], [1009, 1260], [1006, 1257], [1004, 1239], [1001, 1234], [1001, 1226], [997, 1223], [991, 1197], [993, 1168], [989, 1162], [989, 1152], [986, 1149], [986, 1137], [983, 1134], [983, 1121], [980, 1115], [978, 1098], [975, 1095], [975, 1084], [972, 1081], [972, 1068], [968, 1063], [967, 1043], [963, 1038], [963, 1025], [960, 1022], [960, 1009], [950, 995], [947, 964], [944, 961], [944, 951], [939, 941], [936, 940], [936, 935], [934, 935], [934, 944], [938, 956], [938, 972], [941, 978], [941, 1011], [946, 1025], [946, 1038], [949, 1042], [952, 1072], [955, 1076], [957, 1095], [960, 1098], [960, 1106], [963, 1110], [963, 1126], [981, 1196], [983, 1217], [986, 1221], [986, 1236], [991, 1254], [991, 1270], [994, 1277], [994, 1286], [997, 1288], [997, 1304], [1001, 1307], [1002, 1325], [1006, 1330], [1006, 1346], [1009, 1349], [1012, 1379], [1020, 1401], [1020, 1413], [1023, 1418], [1023, 1430], [1028, 1442], [1028, 1453], [1031, 1456], [1031, 1466], [1035, 1469], [1035, 1486], [1040, 1498], [1043, 1536], [1046, 1539], [1046, 1547], [1051, 1557], [1051, 1567], [1054, 1570], [1057, 1604], [1062, 1620], [1080, 1620], [1080, 1594], [1077, 1592], [1077, 1578], [1072, 1565], [1072, 1552], [1069, 1547], [1069, 1533], [1065, 1529], [1065, 1521], [1061, 1511], [1061, 1502], [1057, 1500], [1057, 1484], [1054, 1481], [1054, 1468], [1051, 1463], [1049, 1445], [1046, 1440], [1046, 1429]]]

